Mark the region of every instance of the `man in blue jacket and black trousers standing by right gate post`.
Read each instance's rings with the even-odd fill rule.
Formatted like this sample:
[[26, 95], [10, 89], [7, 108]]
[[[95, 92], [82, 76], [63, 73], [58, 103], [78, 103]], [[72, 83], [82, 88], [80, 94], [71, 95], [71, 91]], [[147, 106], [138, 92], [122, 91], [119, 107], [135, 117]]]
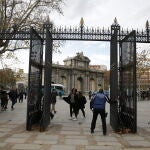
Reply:
[[92, 109], [93, 111], [93, 118], [91, 122], [91, 133], [94, 133], [98, 114], [100, 114], [101, 116], [103, 135], [106, 135], [107, 133], [106, 114], [105, 114], [106, 101], [109, 103], [109, 99], [104, 95], [103, 89], [100, 89], [99, 92], [96, 93], [91, 99], [90, 109]]

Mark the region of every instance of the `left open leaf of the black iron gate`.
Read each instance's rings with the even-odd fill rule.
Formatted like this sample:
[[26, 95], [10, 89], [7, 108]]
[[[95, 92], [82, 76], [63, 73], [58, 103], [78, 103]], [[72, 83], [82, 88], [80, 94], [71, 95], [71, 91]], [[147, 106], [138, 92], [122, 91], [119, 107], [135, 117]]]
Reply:
[[30, 29], [30, 58], [28, 76], [28, 101], [26, 129], [31, 130], [33, 124], [39, 124], [42, 117], [42, 66], [43, 39], [37, 32]]

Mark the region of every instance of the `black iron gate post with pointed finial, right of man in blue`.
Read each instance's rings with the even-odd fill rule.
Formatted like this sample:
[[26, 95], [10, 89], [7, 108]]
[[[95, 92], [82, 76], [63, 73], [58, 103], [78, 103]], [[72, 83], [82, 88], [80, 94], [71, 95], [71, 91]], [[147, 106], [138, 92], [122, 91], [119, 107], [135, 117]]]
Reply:
[[118, 33], [120, 26], [117, 21], [111, 26], [111, 43], [110, 43], [110, 124], [117, 131], [118, 122]]

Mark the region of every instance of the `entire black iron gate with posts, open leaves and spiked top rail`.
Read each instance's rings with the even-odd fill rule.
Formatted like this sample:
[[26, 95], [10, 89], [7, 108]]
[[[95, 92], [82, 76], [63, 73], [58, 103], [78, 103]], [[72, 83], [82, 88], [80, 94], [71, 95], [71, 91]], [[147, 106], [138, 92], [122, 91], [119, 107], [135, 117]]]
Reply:
[[[119, 107], [117, 103], [111, 104], [110, 122], [113, 129], [118, 128], [118, 119], [121, 120], [124, 127], [130, 128], [132, 132], [137, 130], [137, 113], [136, 113], [136, 42], [150, 43], [149, 22], [146, 22], [146, 30], [133, 31], [120, 29], [120, 25], [115, 18], [111, 30], [98, 28], [88, 28], [84, 26], [83, 19], [80, 27], [63, 28], [53, 27], [50, 23], [43, 25], [44, 29], [30, 31], [18, 30], [16, 32], [1, 32], [0, 40], [29, 40], [30, 62], [29, 62], [29, 79], [28, 79], [28, 103], [27, 103], [27, 130], [31, 130], [32, 125], [40, 123], [40, 127], [45, 129], [50, 122], [49, 103], [50, 82], [52, 71], [52, 42], [53, 40], [82, 40], [82, 41], [111, 41], [111, 91], [112, 101], [116, 102], [119, 98]], [[43, 32], [44, 31], [44, 32]], [[46, 32], [45, 32], [46, 31]], [[117, 33], [115, 33], [117, 31]], [[118, 32], [119, 31], [119, 32]], [[46, 36], [45, 36], [46, 34]], [[129, 35], [128, 35], [129, 34]], [[40, 37], [40, 36], [42, 37]], [[45, 80], [44, 80], [44, 99], [42, 98], [42, 64], [43, 64], [43, 39], [46, 39], [46, 58], [45, 58]], [[123, 39], [123, 40], [122, 40]], [[120, 78], [118, 90], [118, 53], [117, 42], [120, 42]], [[49, 43], [50, 42], [50, 43]], [[130, 49], [130, 51], [128, 51]], [[120, 91], [120, 93], [118, 93]], [[43, 103], [42, 103], [43, 102]], [[119, 108], [119, 109], [118, 109]], [[119, 111], [119, 113], [118, 113]], [[118, 115], [119, 114], [119, 115]], [[119, 117], [119, 118], [118, 118]]]

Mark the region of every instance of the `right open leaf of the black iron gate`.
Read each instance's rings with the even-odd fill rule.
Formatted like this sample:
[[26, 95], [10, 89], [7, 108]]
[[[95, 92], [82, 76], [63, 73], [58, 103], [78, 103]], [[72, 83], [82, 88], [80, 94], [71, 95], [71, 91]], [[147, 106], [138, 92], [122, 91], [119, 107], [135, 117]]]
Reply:
[[132, 31], [120, 42], [120, 100], [121, 125], [137, 132], [136, 99], [136, 33]]

